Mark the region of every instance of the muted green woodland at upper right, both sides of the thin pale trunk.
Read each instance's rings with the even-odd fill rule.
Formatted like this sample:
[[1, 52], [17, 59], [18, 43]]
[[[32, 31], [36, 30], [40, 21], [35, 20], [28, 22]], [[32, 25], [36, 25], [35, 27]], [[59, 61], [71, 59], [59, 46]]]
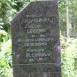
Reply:
[[[77, 36], [77, 0], [68, 0], [70, 36]], [[66, 36], [66, 0], [59, 0], [60, 30]]]

